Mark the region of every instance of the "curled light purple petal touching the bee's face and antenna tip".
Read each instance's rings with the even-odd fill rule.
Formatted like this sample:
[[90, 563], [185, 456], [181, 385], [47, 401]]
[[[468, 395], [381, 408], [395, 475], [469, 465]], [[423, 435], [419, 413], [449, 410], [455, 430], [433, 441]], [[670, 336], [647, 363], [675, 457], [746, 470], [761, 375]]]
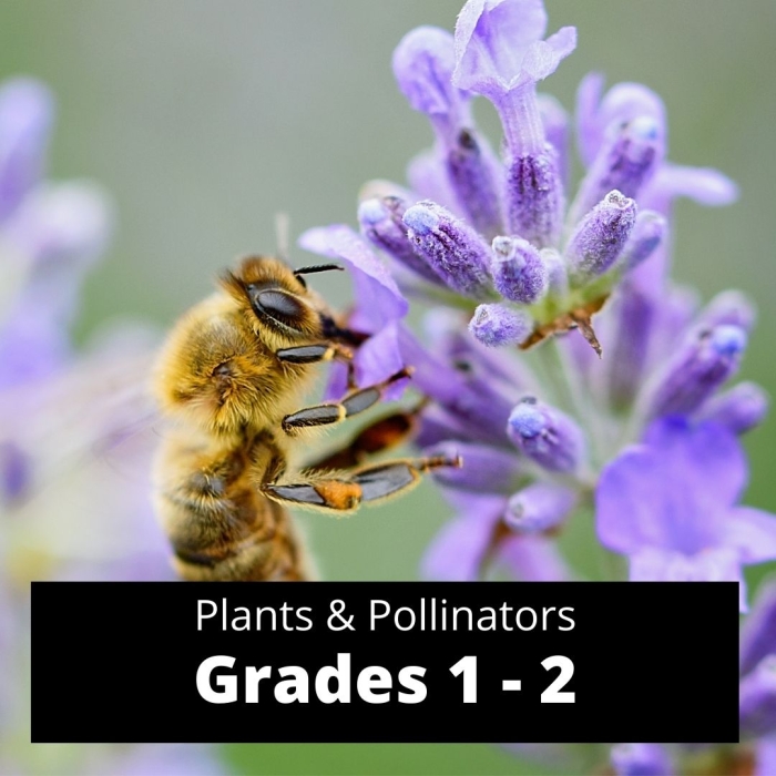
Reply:
[[299, 245], [312, 253], [339, 258], [350, 266], [356, 309], [349, 325], [356, 330], [375, 334], [386, 324], [407, 315], [409, 305], [396, 282], [369, 245], [349, 226], [308, 229], [299, 237]]

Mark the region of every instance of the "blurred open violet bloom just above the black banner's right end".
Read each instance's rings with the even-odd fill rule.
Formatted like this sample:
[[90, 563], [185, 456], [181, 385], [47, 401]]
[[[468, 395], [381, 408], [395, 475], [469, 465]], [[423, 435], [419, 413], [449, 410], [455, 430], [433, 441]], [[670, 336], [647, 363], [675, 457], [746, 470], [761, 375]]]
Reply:
[[737, 581], [746, 611], [742, 566], [776, 559], [776, 518], [736, 506], [746, 474], [722, 426], [656, 421], [601, 474], [599, 539], [629, 557], [632, 580]]

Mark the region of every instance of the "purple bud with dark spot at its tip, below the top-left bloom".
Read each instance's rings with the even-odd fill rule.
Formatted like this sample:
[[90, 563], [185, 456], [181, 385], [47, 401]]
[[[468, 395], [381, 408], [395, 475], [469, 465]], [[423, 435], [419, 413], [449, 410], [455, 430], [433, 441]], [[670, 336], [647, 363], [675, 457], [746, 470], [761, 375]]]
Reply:
[[471, 225], [492, 236], [501, 228], [500, 166], [487, 142], [473, 130], [461, 129], [447, 147], [450, 184]]

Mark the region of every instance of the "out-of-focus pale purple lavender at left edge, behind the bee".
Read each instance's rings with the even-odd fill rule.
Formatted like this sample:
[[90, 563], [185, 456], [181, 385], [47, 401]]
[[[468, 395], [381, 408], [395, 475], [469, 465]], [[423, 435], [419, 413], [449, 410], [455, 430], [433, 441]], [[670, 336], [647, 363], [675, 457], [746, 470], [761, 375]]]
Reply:
[[[29, 741], [30, 580], [172, 578], [150, 504], [149, 338], [131, 327], [81, 354], [70, 340], [112, 213], [91, 183], [45, 181], [52, 119], [42, 84], [0, 86], [0, 769], [21, 774], [40, 766], [4, 746]], [[207, 747], [91, 754], [72, 747], [73, 772], [223, 772]]]

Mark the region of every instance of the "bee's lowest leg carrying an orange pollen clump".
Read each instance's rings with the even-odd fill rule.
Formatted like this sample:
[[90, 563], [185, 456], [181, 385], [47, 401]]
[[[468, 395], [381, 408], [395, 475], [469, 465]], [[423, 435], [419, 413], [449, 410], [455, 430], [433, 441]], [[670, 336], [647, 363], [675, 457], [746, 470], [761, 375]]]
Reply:
[[313, 478], [287, 484], [269, 483], [262, 487], [262, 492], [285, 504], [343, 514], [355, 511], [361, 503], [409, 490], [420, 481], [421, 474], [448, 466], [460, 467], [461, 459], [435, 456], [389, 461], [341, 477]]

